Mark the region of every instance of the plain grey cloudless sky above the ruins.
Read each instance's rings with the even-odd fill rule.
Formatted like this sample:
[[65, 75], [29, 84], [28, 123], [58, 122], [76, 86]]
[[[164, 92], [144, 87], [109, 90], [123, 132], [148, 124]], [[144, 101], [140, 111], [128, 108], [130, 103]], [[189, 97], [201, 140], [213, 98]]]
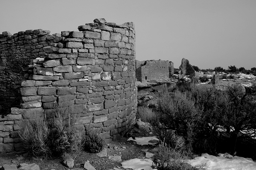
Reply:
[[95, 18], [134, 22], [136, 60], [256, 67], [256, 0], [1, 0], [0, 18], [0, 34], [78, 31]]

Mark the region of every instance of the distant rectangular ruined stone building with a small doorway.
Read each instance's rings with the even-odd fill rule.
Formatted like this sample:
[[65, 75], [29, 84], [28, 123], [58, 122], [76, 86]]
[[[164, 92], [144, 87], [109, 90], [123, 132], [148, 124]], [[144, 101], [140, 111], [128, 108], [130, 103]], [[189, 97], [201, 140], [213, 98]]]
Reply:
[[136, 78], [140, 82], [169, 78], [170, 75], [173, 75], [173, 69], [173, 62], [168, 60], [136, 60]]

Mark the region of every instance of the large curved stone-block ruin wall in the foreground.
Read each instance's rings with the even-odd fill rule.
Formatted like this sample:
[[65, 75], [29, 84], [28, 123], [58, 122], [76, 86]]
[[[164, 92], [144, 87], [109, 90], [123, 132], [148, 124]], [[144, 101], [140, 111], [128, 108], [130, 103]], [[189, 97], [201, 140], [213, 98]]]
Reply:
[[102, 128], [106, 142], [135, 120], [134, 24], [95, 19], [78, 30], [0, 34], [0, 152], [22, 150], [20, 124], [30, 114], [52, 118], [61, 100], [74, 106], [78, 126]]

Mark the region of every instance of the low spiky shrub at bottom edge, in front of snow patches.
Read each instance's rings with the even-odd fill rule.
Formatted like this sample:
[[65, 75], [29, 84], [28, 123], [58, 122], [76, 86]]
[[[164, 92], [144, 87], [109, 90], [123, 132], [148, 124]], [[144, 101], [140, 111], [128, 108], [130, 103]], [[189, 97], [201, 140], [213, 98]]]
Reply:
[[191, 166], [188, 156], [181, 150], [168, 147], [164, 142], [159, 145], [160, 150], [153, 157], [153, 168], [158, 170], [205, 170], [207, 163]]

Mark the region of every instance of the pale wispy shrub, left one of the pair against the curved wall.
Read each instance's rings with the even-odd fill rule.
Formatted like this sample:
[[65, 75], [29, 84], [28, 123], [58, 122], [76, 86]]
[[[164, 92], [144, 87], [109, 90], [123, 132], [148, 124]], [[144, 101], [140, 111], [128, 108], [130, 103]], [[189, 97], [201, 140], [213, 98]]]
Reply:
[[49, 156], [50, 148], [47, 145], [49, 130], [44, 117], [30, 116], [29, 120], [23, 121], [19, 135], [24, 148], [34, 156]]

